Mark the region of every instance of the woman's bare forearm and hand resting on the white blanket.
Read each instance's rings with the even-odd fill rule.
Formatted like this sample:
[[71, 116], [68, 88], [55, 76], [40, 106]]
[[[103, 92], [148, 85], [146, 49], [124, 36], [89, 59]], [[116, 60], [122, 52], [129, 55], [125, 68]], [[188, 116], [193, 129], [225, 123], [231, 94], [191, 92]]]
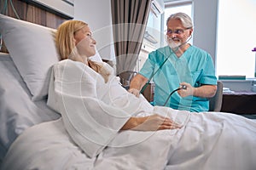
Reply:
[[137, 130], [137, 131], [155, 131], [164, 129], [180, 128], [176, 122], [170, 118], [154, 114], [152, 116], [131, 117], [121, 130]]

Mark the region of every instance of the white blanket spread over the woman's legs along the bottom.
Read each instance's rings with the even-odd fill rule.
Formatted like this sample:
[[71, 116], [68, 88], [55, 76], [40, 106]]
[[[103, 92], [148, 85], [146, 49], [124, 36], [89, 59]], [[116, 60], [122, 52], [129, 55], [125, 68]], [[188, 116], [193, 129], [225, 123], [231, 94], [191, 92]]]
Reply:
[[[127, 141], [142, 133], [123, 131], [116, 139]], [[193, 113], [180, 130], [158, 131], [141, 143], [107, 147], [89, 158], [74, 144], [60, 118], [26, 129], [12, 144], [2, 168], [254, 170], [255, 139], [252, 120], [229, 113]]]

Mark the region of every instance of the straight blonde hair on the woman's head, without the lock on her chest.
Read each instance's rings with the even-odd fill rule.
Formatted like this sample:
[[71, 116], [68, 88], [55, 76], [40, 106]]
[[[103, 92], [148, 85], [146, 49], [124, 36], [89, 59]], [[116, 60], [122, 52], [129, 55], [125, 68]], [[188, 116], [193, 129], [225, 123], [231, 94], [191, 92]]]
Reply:
[[68, 59], [70, 55], [73, 55], [73, 49], [76, 46], [73, 41], [74, 33], [84, 26], [88, 26], [88, 24], [80, 20], [66, 20], [58, 27], [55, 44], [61, 59]]

